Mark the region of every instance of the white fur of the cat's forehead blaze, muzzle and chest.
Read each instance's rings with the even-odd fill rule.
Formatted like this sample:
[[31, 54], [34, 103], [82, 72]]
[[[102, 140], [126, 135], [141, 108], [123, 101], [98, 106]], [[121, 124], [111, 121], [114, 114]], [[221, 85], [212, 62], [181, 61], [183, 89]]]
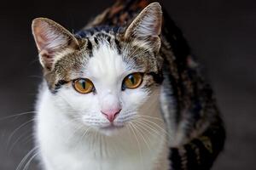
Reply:
[[[73, 78], [89, 78], [96, 94], [79, 94], [70, 84], [57, 94], [42, 89], [37, 105], [36, 139], [45, 170], [154, 170], [165, 148], [166, 135], [160, 116], [160, 89], [121, 90], [125, 76], [133, 72], [122, 56], [106, 42], [93, 51], [82, 73]], [[77, 77], [79, 75], [79, 77]], [[143, 84], [142, 84], [143, 87]], [[122, 111], [113, 124], [102, 115], [103, 107], [120, 105]], [[134, 132], [129, 122], [137, 116], [148, 119], [154, 130], [140, 127]], [[124, 126], [124, 127], [123, 127]], [[149, 125], [148, 125], [149, 126]], [[141, 136], [143, 134], [143, 137]], [[167, 160], [167, 157], [166, 157]], [[168, 161], [163, 167], [168, 167]]]

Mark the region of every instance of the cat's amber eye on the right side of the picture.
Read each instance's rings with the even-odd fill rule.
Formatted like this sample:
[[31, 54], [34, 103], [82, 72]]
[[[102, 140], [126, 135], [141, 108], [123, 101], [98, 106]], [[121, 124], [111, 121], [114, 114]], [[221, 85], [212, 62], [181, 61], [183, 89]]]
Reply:
[[140, 72], [132, 73], [125, 77], [123, 82], [123, 88], [138, 88], [143, 82], [143, 74]]

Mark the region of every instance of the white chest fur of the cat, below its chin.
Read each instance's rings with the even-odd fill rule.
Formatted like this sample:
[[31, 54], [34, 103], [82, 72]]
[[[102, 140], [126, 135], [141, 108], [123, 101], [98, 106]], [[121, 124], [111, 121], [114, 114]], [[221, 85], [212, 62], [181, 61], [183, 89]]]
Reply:
[[[50, 102], [50, 97], [45, 89], [38, 101], [36, 122], [45, 170], [154, 170], [163, 161], [160, 159], [166, 159], [166, 135], [160, 128], [149, 132], [149, 127], [137, 125], [140, 130], [127, 127], [114, 136], [90, 129], [85, 134]], [[167, 165], [160, 169], [164, 167]]]

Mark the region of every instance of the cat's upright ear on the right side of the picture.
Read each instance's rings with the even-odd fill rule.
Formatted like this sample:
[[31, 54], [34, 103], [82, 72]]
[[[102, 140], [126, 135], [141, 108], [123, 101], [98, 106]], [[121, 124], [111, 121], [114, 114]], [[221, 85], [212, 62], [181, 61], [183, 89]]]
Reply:
[[125, 31], [125, 39], [143, 40], [150, 48], [159, 50], [161, 26], [162, 10], [160, 3], [150, 3], [128, 26]]

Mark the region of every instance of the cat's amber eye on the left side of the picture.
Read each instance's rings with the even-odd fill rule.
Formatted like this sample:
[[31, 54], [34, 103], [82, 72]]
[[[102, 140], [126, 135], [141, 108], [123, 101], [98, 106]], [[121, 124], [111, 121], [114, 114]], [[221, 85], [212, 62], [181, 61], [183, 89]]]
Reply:
[[77, 79], [73, 81], [73, 88], [81, 94], [89, 94], [94, 90], [93, 83], [89, 79]]

